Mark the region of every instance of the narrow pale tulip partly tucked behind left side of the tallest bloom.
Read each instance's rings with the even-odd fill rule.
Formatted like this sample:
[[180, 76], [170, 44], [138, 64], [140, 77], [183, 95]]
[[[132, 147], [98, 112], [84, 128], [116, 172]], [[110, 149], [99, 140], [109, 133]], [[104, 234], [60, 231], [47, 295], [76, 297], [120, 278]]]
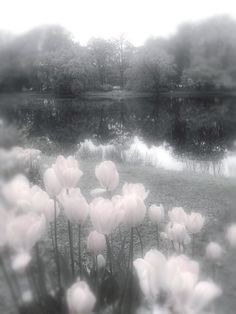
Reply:
[[56, 197], [61, 192], [62, 186], [53, 168], [45, 171], [43, 181], [45, 189], [51, 197]]

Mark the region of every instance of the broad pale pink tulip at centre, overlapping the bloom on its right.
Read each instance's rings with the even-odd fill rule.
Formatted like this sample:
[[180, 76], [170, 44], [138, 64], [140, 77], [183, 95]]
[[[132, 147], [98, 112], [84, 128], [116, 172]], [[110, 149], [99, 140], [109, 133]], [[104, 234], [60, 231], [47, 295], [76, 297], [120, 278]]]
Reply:
[[121, 222], [123, 212], [117, 210], [112, 201], [98, 197], [90, 203], [90, 218], [95, 230], [110, 234]]

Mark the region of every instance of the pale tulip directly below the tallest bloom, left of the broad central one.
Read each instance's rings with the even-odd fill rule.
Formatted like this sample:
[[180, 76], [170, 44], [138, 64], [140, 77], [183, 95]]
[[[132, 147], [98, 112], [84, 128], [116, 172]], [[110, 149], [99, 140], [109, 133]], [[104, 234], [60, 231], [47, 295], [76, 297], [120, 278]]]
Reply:
[[63, 192], [59, 200], [64, 208], [68, 220], [77, 224], [83, 224], [89, 214], [89, 205], [79, 188], [73, 188]]

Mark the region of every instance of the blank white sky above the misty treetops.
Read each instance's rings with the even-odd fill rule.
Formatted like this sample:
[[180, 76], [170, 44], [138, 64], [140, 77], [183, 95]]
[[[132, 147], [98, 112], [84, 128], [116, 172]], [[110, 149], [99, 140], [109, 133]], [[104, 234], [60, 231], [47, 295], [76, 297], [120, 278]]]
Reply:
[[0, 0], [0, 30], [19, 34], [60, 24], [81, 44], [125, 34], [139, 46], [172, 35], [184, 22], [220, 14], [236, 18], [236, 0]]

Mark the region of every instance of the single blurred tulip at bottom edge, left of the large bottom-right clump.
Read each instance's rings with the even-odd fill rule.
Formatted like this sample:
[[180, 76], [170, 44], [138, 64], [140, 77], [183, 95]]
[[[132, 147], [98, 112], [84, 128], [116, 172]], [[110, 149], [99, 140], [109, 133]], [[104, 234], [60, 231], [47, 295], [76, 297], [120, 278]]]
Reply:
[[77, 281], [66, 293], [69, 314], [91, 314], [96, 298], [85, 281]]

